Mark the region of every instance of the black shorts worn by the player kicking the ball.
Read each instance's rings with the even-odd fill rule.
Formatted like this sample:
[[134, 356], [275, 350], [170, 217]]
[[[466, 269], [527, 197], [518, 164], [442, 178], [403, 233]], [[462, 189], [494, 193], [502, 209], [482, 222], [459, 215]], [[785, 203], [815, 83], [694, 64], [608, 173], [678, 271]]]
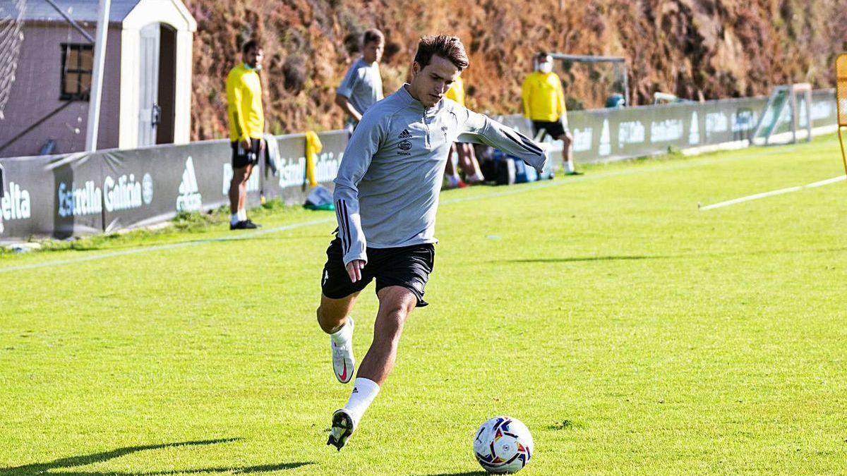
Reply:
[[326, 249], [326, 264], [321, 275], [321, 291], [330, 299], [341, 299], [362, 291], [376, 278], [376, 291], [388, 286], [402, 286], [418, 298], [418, 307], [424, 301], [424, 286], [435, 263], [435, 246], [401, 246], [398, 248], [368, 248], [368, 263], [362, 270], [362, 280], [350, 281], [344, 266], [341, 241], [335, 238]]

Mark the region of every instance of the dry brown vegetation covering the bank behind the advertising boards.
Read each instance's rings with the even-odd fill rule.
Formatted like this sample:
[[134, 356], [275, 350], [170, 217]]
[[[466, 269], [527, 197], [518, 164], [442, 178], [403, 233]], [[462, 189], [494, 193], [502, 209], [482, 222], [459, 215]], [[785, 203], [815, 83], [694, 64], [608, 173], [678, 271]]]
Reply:
[[[194, 42], [192, 139], [225, 135], [224, 78], [238, 46], [256, 36], [274, 133], [341, 125], [332, 97], [356, 57], [355, 39], [385, 31], [386, 93], [406, 79], [419, 36], [451, 33], [468, 47], [468, 103], [518, 112], [520, 84], [539, 49], [627, 58], [632, 99], [654, 91], [691, 99], [766, 94], [810, 81], [832, 86], [835, 53], [847, 49], [844, 0], [185, 0]], [[609, 69], [562, 71], [572, 104], [597, 107]]]

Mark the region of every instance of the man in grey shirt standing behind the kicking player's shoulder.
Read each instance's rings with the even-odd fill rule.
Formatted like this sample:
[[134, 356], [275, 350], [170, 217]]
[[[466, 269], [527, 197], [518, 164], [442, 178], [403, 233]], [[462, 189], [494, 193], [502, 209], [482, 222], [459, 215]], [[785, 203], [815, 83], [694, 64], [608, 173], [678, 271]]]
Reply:
[[371, 28], [362, 36], [362, 58], [358, 58], [335, 91], [335, 104], [346, 114], [345, 128], [352, 132], [362, 120], [362, 114], [382, 100], [382, 76], [379, 60], [385, 50], [382, 31]]

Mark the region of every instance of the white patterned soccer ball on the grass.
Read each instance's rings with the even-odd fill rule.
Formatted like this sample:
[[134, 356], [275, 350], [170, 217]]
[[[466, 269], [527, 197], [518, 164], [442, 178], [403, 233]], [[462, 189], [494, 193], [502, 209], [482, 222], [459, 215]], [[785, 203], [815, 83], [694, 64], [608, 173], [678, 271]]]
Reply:
[[518, 473], [534, 449], [525, 424], [511, 417], [491, 418], [477, 430], [473, 454], [489, 473]]

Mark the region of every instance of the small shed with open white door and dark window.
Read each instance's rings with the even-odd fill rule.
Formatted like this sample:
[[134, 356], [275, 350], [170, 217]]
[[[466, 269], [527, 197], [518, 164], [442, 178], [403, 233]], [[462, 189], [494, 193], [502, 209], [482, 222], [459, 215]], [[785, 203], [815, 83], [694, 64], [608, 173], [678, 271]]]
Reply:
[[[94, 49], [65, 17], [94, 37], [99, 2], [53, 3], [0, 0], [0, 17], [23, 21], [0, 157], [85, 150]], [[112, 0], [98, 149], [189, 141], [196, 30], [180, 0]]]

